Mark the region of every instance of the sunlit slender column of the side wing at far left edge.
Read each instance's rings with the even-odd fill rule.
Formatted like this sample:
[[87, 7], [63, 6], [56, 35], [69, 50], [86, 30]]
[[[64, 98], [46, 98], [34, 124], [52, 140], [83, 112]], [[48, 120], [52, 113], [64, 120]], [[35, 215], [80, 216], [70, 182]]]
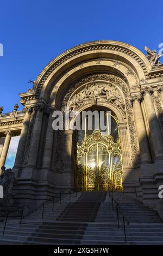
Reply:
[[1, 158], [0, 158], [0, 174], [2, 174], [1, 167], [5, 164], [5, 159], [7, 158], [7, 153], [9, 150], [9, 145], [10, 145], [10, 140], [11, 140], [11, 131], [6, 130], [4, 134], [6, 135], [6, 137], [5, 137], [5, 141], [4, 141], [4, 145], [3, 145], [3, 149], [2, 149], [2, 153], [1, 153]]

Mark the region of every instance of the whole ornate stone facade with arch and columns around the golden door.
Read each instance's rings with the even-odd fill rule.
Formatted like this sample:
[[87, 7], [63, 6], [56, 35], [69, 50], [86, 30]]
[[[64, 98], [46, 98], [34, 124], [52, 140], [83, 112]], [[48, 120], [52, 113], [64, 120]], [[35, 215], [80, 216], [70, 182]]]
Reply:
[[20, 134], [14, 171], [15, 200], [31, 206], [54, 192], [74, 188], [75, 136], [52, 129], [52, 112], [65, 106], [79, 112], [92, 106], [117, 118], [122, 147], [124, 192], [155, 209], [163, 184], [163, 66], [153, 66], [135, 47], [117, 41], [93, 41], [54, 58], [21, 93], [23, 111], [0, 115], [6, 136]]

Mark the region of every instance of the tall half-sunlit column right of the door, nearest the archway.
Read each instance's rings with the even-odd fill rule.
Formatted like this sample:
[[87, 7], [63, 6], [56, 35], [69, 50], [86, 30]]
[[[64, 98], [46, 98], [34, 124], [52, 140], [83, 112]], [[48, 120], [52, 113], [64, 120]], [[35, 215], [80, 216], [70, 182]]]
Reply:
[[142, 110], [140, 106], [141, 96], [135, 96], [131, 99], [134, 110], [134, 120], [136, 126], [137, 137], [139, 140], [141, 163], [151, 162], [151, 153], [149, 151], [149, 144], [147, 138], [147, 132], [145, 127], [145, 121], [143, 119]]

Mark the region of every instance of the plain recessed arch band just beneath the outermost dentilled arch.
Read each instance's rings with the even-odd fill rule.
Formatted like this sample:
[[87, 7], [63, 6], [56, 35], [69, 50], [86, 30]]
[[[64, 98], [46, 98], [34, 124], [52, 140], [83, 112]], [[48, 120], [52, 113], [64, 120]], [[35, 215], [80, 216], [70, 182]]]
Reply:
[[[101, 60], [100, 64], [97, 64], [97, 62], [98, 61], [90, 61], [84, 63], [82, 68], [80, 68], [79, 65], [69, 70], [64, 76], [61, 76], [54, 86], [51, 87], [51, 90], [49, 89], [49, 94], [46, 97], [49, 98], [50, 102], [54, 101], [58, 105], [60, 95], [70, 82], [72, 83], [77, 78], [81, 78], [81, 76], [97, 72], [115, 74], [118, 77], [123, 78], [130, 90], [135, 90], [135, 88], [139, 90], [139, 78], [137, 78], [136, 73], [127, 65], [124, 65], [122, 62], [116, 62], [116, 67], [114, 67], [115, 62], [112, 60]], [[47, 84], [50, 82], [50, 79], [51, 78], [47, 80]], [[45, 88], [47, 87], [45, 86]], [[42, 91], [42, 93], [44, 92]]]

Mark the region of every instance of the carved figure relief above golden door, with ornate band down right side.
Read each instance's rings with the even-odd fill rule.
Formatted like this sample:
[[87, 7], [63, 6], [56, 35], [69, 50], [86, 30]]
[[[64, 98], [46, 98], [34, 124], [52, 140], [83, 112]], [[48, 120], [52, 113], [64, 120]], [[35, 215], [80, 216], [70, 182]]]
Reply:
[[[99, 80], [101, 80], [101, 84], [99, 84]], [[108, 86], [106, 86], [106, 81], [109, 81]], [[87, 86], [83, 88], [82, 85], [86, 83]], [[82, 90], [77, 90], [80, 86]], [[76, 90], [78, 92], [74, 93]], [[70, 85], [68, 92], [62, 100], [61, 109], [64, 111], [65, 106], [68, 105], [71, 111], [77, 110], [85, 104], [86, 100], [91, 100], [93, 104], [96, 104], [96, 100], [100, 97], [103, 97], [105, 102], [115, 105], [121, 111], [123, 117], [127, 118], [132, 149], [131, 161], [135, 163], [137, 155], [139, 154], [139, 146], [133, 121], [129, 88], [122, 79], [110, 74], [87, 76], [76, 84]]]

